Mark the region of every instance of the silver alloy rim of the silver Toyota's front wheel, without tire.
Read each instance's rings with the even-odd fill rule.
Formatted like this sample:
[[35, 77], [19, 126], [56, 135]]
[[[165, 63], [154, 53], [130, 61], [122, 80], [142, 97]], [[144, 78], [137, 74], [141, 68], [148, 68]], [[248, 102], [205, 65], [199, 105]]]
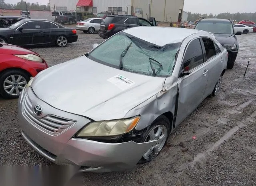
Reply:
[[167, 139], [167, 129], [164, 125], [157, 125], [152, 128], [148, 133], [145, 142], [159, 140], [157, 144], [151, 146], [145, 154], [143, 154], [143, 158], [146, 160], [150, 160], [158, 155], [158, 153], [162, 150], [166, 139]]

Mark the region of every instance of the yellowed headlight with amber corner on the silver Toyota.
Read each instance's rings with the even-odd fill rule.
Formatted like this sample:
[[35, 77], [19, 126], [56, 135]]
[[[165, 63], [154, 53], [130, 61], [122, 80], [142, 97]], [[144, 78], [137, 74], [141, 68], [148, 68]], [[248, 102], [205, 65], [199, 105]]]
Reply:
[[86, 125], [86, 127], [78, 133], [77, 137], [109, 137], [122, 135], [132, 131], [139, 120], [140, 116], [130, 119], [95, 121]]

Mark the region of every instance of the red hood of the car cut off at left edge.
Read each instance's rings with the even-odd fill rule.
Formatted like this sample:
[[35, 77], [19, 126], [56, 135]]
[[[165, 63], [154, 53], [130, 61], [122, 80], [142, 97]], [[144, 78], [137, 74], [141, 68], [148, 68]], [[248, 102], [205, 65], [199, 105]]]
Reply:
[[36, 53], [34, 51], [31, 51], [29, 49], [25, 49], [25, 48], [22, 48], [22, 47], [19, 47], [16, 45], [2, 43], [2, 46], [0, 47], [0, 54], [22, 55], [22, 54], [29, 54], [29, 53], [39, 55], [38, 53]]

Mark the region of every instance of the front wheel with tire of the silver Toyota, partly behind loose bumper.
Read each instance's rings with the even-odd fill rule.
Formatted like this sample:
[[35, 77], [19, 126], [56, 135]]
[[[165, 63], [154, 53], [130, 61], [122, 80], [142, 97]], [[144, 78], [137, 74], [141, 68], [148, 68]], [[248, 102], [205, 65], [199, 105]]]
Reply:
[[[156, 150], [156, 148], [153, 148], [153, 147], [149, 148], [145, 152], [145, 154], [143, 154], [143, 156], [139, 160], [138, 164], [143, 164], [143, 163], [146, 163], [146, 162], [150, 162], [151, 160], [156, 158], [158, 156], [158, 154], [160, 154], [164, 145], [166, 144], [166, 142], [168, 140], [168, 137], [169, 137], [169, 134], [170, 134], [171, 124], [170, 124], [170, 121], [168, 120], [168, 118], [165, 117], [164, 115], [159, 116], [152, 123], [152, 125], [150, 126], [148, 131], [145, 133], [144, 137], [142, 138], [141, 142], [147, 142], [149, 140], [152, 140], [153, 138], [157, 138], [155, 134], [157, 134], [158, 130], [161, 130], [160, 127], [162, 127], [162, 132], [159, 134], [160, 137], [165, 133], [164, 137], [163, 137], [164, 139], [157, 144], [157, 146], [159, 145], [158, 148], [160, 148], [160, 150], [157, 150], [157, 151], [154, 152], [154, 150]], [[150, 135], [150, 133], [152, 133], [152, 131], [154, 131], [154, 135]]]

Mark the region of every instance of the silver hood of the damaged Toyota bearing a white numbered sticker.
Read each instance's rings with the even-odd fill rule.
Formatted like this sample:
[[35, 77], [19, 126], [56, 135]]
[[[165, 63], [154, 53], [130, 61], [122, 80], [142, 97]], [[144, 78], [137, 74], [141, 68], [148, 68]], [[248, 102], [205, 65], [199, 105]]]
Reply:
[[40, 72], [31, 87], [52, 107], [98, 121], [123, 118], [160, 92], [165, 79], [108, 67], [83, 55]]

